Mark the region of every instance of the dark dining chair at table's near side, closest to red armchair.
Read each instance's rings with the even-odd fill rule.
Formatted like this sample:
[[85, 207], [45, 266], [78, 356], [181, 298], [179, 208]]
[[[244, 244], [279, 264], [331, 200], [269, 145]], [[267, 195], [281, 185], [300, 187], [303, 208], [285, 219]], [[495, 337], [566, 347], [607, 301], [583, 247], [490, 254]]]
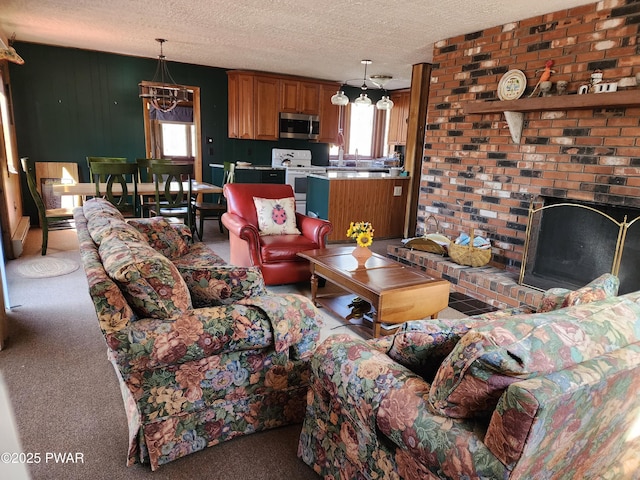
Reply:
[[193, 232], [193, 164], [152, 162], [150, 170], [155, 183], [155, 203], [149, 214], [180, 218]]

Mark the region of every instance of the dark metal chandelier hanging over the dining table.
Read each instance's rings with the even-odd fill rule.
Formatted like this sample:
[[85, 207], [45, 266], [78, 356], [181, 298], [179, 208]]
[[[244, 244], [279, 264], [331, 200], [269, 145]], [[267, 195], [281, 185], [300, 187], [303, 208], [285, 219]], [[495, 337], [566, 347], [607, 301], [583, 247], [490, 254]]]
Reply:
[[189, 101], [189, 91], [182, 85], [176, 84], [169, 73], [167, 59], [162, 53], [162, 44], [166, 42], [164, 38], [156, 38], [160, 44], [160, 55], [158, 55], [158, 66], [153, 80], [138, 84], [139, 97], [146, 98], [154, 108], [161, 112], [170, 112], [181, 102]]

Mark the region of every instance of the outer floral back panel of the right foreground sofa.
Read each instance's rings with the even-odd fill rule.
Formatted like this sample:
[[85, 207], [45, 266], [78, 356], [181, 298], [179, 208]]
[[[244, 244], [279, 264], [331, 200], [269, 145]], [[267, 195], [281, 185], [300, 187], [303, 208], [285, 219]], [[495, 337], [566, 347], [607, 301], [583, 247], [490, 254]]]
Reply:
[[640, 435], [631, 435], [640, 419], [639, 370], [633, 344], [516, 382], [500, 398], [485, 444], [514, 478], [534, 478], [542, 467], [558, 478], [630, 478], [615, 472], [622, 453], [640, 451]]

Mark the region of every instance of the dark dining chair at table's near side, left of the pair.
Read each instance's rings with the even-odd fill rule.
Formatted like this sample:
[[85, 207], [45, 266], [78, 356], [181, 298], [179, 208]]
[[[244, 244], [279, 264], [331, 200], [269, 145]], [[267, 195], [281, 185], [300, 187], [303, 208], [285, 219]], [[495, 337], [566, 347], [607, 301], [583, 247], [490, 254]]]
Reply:
[[[96, 197], [104, 197], [125, 217], [139, 217], [138, 165], [135, 163], [97, 162], [91, 166]], [[103, 178], [104, 182], [99, 179]], [[106, 191], [100, 191], [106, 183]], [[115, 187], [115, 188], [114, 188]]]

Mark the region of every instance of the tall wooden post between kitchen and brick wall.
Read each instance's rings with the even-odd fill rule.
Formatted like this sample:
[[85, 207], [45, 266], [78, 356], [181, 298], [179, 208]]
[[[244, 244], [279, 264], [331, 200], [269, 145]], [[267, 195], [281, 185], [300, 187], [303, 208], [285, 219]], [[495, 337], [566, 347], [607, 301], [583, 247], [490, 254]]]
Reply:
[[409, 100], [409, 123], [407, 125], [407, 146], [404, 169], [411, 176], [409, 182], [404, 237], [414, 237], [418, 218], [418, 198], [424, 156], [424, 134], [427, 124], [427, 104], [431, 82], [431, 64], [417, 63], [411, 72], [411, 97]]

